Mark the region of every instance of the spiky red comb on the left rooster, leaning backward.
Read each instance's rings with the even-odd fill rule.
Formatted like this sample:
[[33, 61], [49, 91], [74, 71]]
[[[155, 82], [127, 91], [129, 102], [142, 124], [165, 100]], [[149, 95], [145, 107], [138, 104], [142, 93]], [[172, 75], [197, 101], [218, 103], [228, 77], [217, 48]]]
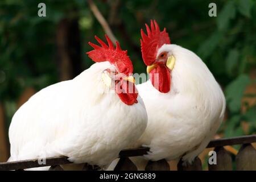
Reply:
[[94, 50], [86, 52], [90, 59], [94, 62], [109, 61], [109, 63], [114, 64], [118, 71], [129, 75], [133, 73], [133, 63], [129, 56], [127, 56], [127, 51], [123, 51], [119, 46], [118, 42], [115, 42], [116, 47], [113, 46], [112, 41], [109, 39], [108, 35], [105, 35], [108, 45], [106, 45], [101, 39], [95, 36], [95, 39], [101, 46], [89, 42], [88, 44], [94, 48]]

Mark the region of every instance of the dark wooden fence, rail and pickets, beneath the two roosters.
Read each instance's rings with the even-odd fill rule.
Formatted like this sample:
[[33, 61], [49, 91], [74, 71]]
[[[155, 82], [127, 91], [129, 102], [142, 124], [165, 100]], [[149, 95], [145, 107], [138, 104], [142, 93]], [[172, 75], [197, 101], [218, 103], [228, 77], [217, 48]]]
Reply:
[[[251, 143], [256, 142], [256, 135], [248, 135], [234, 138], [221, 138], [210, 141], [207, 148], [215, 147], [214, 151], [217, 154], [218, 164], [209, 165], [209, 170], [232, 170], [232, 158], [224, 146], [232, 146], [235, 144], [242, 144], [240, 151], [236, 155], [236, 164], [238, 170], [256, 170], [256, 150]], [[129, 150], [122, 150], [119, 153], [119, 162], [115, 167], [115, 170], [137, 170], [137, 167], [129, 157], [141, 156], [147, 154], [149, 148], [133, 148]], [[20, 160], [17, 162], [4, 162], [0, 163], [0, 171], [2, 170], [22, 170], [26, 168], [51, 166], [49, 170], [63, 170], [60, 165], [70, 164], [66, 156], [55, 156], [52, 158], [46, 158], [45, 164], [39, 164], [41, 159]], [[92, 166], [85, 164], [84, 170], [93, 169]], [[157, 162], [148, 162], [146, 170], [170, 170], [169, 164], [166, 160], [159, 160]], [[178, 170], [201, 170], [201, 160], [196, 158], [193, 164], [183, 166], [180, 162], [177, 164]]]

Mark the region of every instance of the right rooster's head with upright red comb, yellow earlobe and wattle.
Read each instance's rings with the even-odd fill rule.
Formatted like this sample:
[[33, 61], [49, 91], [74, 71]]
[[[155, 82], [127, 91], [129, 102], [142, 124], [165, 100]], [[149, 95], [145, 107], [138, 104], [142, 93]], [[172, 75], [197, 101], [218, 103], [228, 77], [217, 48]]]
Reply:
[[160, 31], [156, 21], [151, 20], [151, 29], [146, 24], [147, 35], [141, 30], [141, 51], [144, 63], [147, 65], [147, 73], [150, 73], [152, 85], [159, 92], [167, 93], [171, 89], [170, 72], [174, 68], [175, 57], [171, 51], [162, 47], [170, 44], [170, 38], [166, 28]]

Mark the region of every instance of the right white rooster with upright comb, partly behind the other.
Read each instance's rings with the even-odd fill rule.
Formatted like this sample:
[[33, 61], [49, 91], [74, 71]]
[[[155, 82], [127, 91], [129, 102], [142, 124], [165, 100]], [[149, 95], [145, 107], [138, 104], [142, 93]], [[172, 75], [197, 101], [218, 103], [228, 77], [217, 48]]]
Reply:
[[147, 160], [182, 158], [183, 164], [192, 163], [222, 122], [224, 94], [200, 57], [171, 44], [155, 20], [151, 30], [146, 28], [147, 35], [141, 30], [141, 50], [150, 80], [137, 88], [148, 125], [135, 147], [150, 147]]

